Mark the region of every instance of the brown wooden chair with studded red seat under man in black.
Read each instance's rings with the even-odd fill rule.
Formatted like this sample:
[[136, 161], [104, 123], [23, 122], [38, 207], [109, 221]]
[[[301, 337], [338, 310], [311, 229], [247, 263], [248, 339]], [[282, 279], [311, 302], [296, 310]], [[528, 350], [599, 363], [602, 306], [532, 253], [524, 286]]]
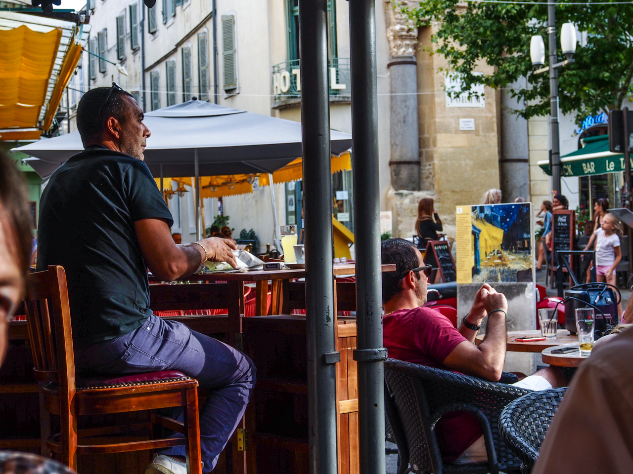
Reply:
[[[27, 281], [28, 333], [35, 378], [41, 382], [47, 413], [60, 415], [60, 434], [47, 438], [48, 449], [59, 453], [61, 462], [77, 470], [77, 454], [108, 454], [187, 446], [187, 472], [201, 474], [200, 427], [195, 379], [175, 370], [117, 377], [104, 375], [89, 380], [75, 378], [68, 287], [63, 267], [30, 274]], [[82, 415], [106, 415], [182, 406], [184, 423], [149, 412], [149, 423], [77, 429]], [[170, 428], [184, 437], [151, 439], [154, 425]], [[130, 428], [149, 428], [149, 438], [130, 441]], [[112, 435], [126, 434], [124, 442]], [[103, 437], [108, 435], [108, 437]], [[84, 444], [101, 436], [99, 444]], [[137, 439], [137, 438], [135, 438]], [[81, 442], [81, 444], [80, 444]]]

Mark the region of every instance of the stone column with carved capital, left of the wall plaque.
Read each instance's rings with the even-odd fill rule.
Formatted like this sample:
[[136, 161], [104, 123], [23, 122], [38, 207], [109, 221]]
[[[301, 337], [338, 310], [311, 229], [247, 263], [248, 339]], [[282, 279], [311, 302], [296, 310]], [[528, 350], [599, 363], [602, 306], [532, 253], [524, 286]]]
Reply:
[[[408, 2], [401, 1], [406, 6]], [[418, 71], [414, 56], [417, 28], [404, 15], [386, 8], [391, 82], [391, 186], [394, 190], [420, 190], [420, 145], [418, 130]]]

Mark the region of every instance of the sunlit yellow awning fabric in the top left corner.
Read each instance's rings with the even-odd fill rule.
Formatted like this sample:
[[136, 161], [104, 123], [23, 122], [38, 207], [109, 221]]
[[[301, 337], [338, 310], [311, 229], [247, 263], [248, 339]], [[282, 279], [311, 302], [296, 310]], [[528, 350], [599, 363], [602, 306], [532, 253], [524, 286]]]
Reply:
[[37, 126], [61, 33], [26, 25], [0, 30], [0, 128]]

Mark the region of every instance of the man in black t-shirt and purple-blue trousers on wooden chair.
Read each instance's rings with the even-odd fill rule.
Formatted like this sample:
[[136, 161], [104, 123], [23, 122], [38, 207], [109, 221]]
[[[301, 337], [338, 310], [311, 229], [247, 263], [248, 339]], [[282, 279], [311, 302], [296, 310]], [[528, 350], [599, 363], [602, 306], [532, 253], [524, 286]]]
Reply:
[[[200, 415], [208, 472], [246, 410], [255, 369], [227, 344], [156, 317], [146, 269], [172, 281], [205, 260], [237, 266], [235, 245], [220, 238], [174, 243], [172, 214], [143, 162], [150, 133], [132, 95], [115, 83], [90, 90], [79, 102], [77, 128], [85, 150], [57, 169], [42, 193], [38, 269], [66, 270], [78, 371], [179, 370], [211, 389]], [[184, 447], [177, 446], [154, 458], [146, 474], [185, 472]]]

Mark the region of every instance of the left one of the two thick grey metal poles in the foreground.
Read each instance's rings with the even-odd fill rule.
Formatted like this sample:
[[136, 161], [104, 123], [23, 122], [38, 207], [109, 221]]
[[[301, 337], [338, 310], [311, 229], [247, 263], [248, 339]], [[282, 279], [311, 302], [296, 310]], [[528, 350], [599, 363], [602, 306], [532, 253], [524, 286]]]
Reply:
[[311, 474], [337, 474], [327, 0], [299, 0]]

